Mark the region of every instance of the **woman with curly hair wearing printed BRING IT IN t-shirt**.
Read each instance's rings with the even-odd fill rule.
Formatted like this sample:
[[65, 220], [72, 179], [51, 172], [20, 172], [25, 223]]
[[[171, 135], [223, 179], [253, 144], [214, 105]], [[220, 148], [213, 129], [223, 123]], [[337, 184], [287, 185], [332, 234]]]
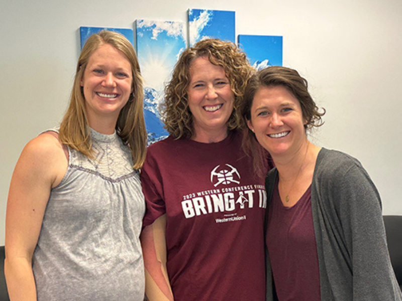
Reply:
[[186, 49], [174, 68], [162, 111], [170, 135], [148, 147], [141, 171], [150, 300], [265, 298], [264, 180], [241, 150], [252, 73], [217, 39]]

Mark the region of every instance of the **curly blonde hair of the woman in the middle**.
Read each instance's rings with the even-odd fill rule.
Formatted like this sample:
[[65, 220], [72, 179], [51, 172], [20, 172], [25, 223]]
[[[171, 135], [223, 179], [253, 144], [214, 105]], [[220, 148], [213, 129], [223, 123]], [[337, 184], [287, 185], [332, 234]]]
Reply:
[[188, 107], [187, 89], [190, 83], [190, 67], [198, 57], [208, 60], [225, 70], [234, 94], [234, 109], [227, 122], [229, 130], [242, 127], [240, 104], [244, 89], [254, 69], [246, 54], [232, 42], [219, 39], [205, 39], [184, 50], [177, 61], [172, 79], [165, 87], [165, 100], [161, 104], [161, 116], [165, 128], [175, 138], [190, 139], [193, 132], [192, 113]]

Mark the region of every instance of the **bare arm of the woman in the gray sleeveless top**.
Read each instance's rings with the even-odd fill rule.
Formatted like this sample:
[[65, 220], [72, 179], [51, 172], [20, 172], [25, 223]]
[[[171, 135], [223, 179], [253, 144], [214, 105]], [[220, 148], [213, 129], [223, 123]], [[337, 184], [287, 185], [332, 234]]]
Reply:
[[13, 301], [36, 300], [32, 255], [50, 190], [60, 183], [66, 168], [62, 146], [50, 134], [30, 141], [17, 162], [6, 214], [5, 275]]

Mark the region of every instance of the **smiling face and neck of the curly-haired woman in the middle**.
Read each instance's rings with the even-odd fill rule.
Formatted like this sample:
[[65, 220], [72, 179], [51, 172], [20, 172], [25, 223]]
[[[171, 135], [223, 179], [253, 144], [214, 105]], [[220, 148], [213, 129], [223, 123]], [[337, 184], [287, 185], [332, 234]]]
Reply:
[[208, 57], [194, 59], [190, 66], [187, 95], [193, 115], [192, 138], [200, 142], [211, 140], [211, 137], [217, 141], [225, 139], [234, 94], [223, 67], [212, 64]]

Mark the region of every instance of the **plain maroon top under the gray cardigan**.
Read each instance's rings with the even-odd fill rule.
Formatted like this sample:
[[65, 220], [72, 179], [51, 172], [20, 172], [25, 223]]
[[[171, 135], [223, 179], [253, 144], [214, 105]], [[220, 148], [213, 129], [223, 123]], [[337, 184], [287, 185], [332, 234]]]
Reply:
[[266, 241], [279, 300], [320, 301], [311, 186], [294, 206], [285, 207], [275, 184], [268, 205]]

